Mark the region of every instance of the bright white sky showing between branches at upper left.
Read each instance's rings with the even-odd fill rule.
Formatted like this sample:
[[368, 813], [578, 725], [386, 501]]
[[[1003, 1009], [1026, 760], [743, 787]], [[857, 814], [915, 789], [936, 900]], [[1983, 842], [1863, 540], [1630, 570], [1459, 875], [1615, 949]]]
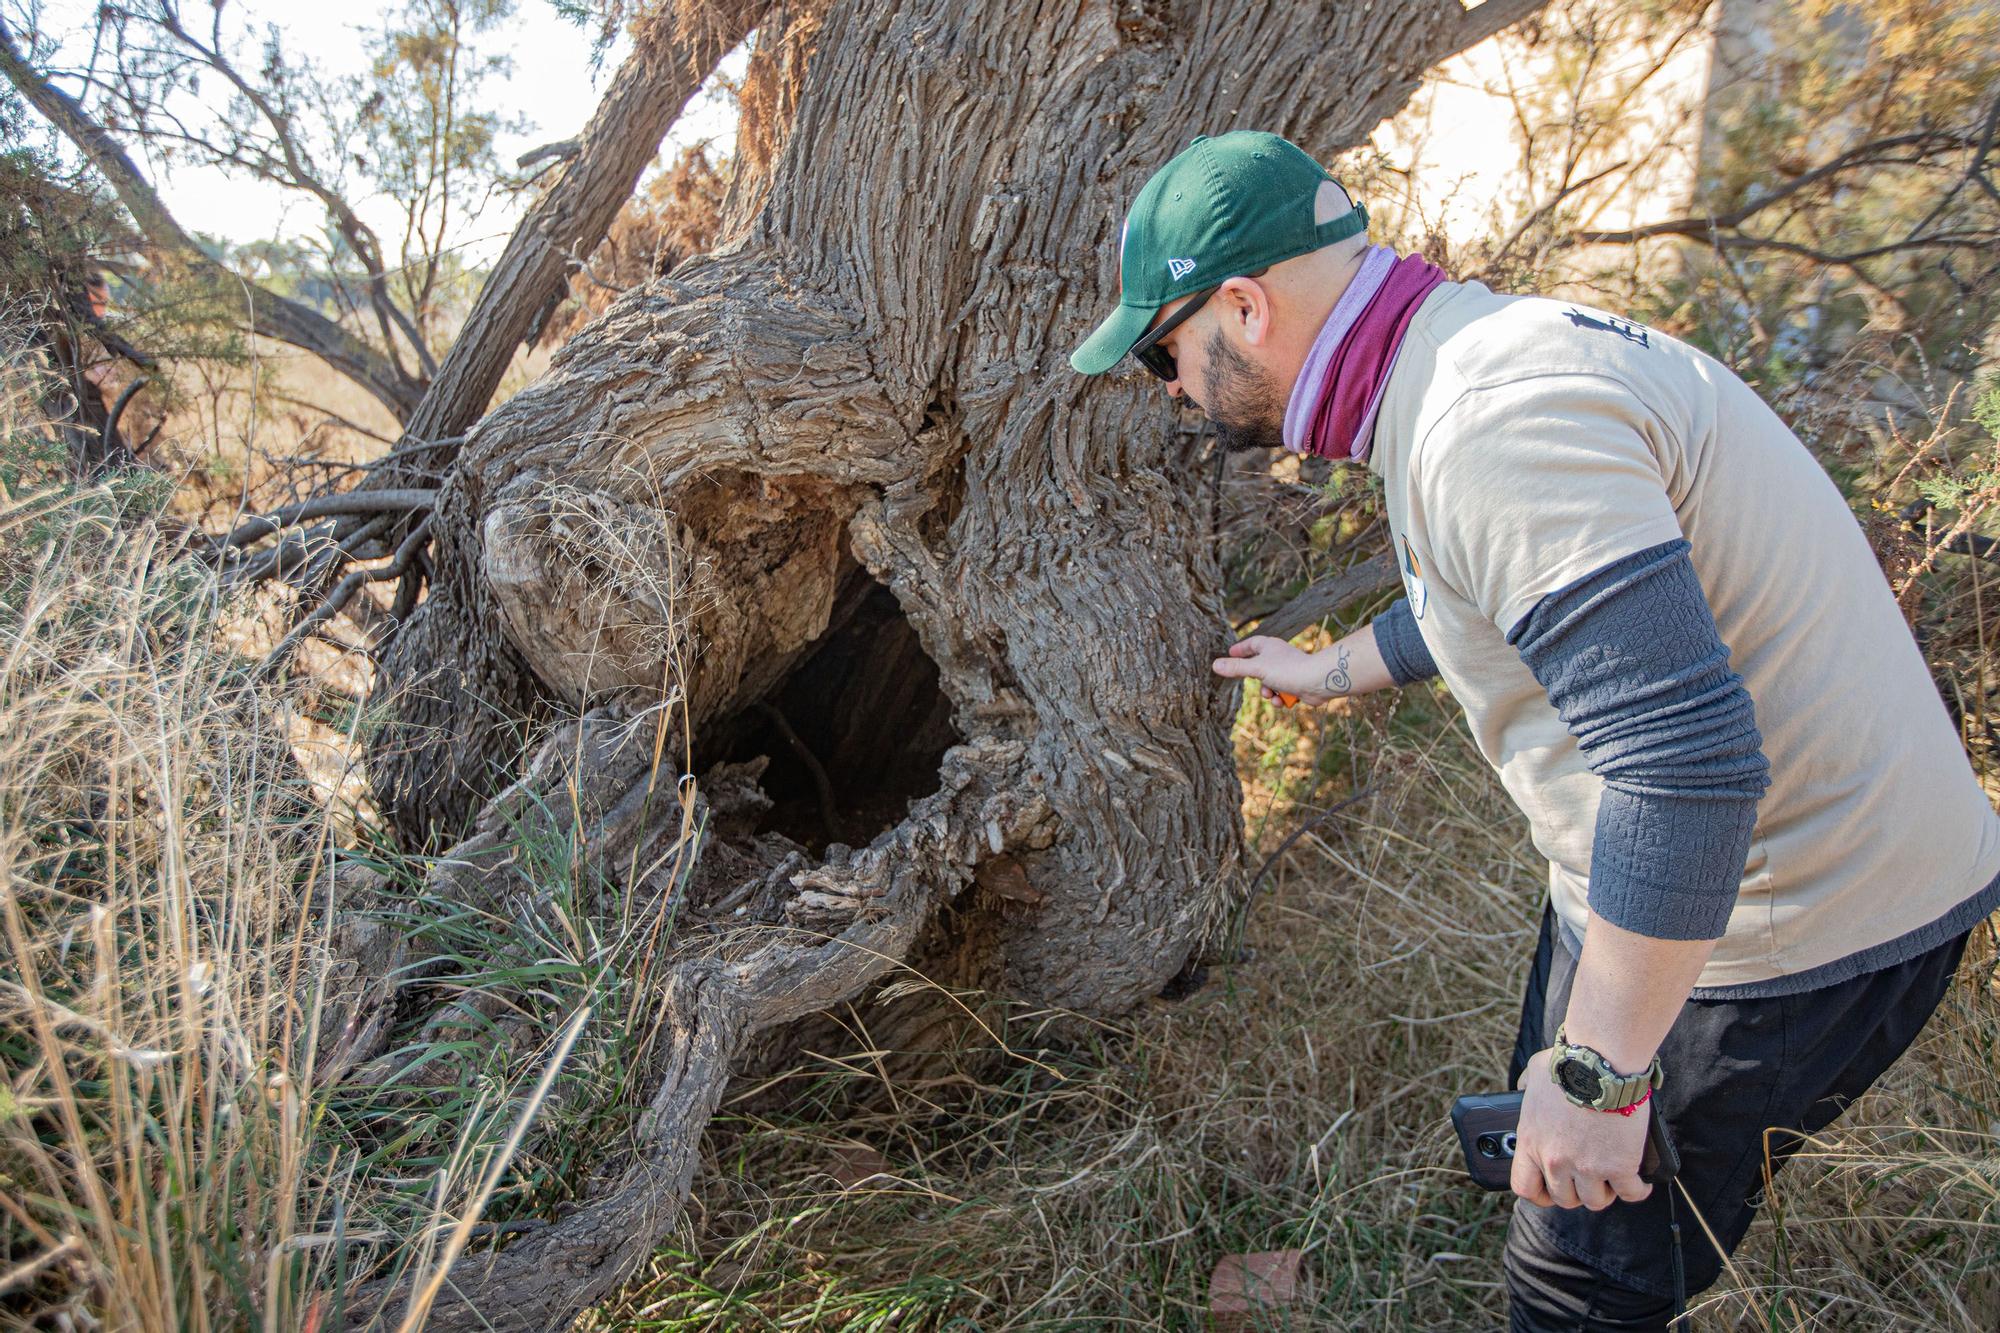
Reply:
[[[250, 34], [262, 32], [264, 24], [284, 24], [284, 40], [290, 52], [310, 54], [328, 74], [356, 74], [366, 68], [366, 40], [370, 30], [380, 30], [390, 6], [384, 0], [238, 0], [230, 6], [234, 20], [226, 30]], [[192, 0], [186, 10], [206, 22], [208, 4]], [[88, 58], [94, 0], [46, 0], [42, 24], [50, 34], [66, 38], [62, 58], [82, 64]], [[510, 56], [512, 76], [496, 76], [484, 84], [480, 98], [484, 108], [500, 110], [508, 116], [528, 120], [526, 132], [506, 134], [498, 142], [500, 160], [512, 166], [514, 158], [552, 140], [570, 138], [584, 128], [598, 98], [624, 58], [630, 42], [620, 36], [598, 68], [592, 68], [592, 40], [586, 28], [578, 28], [556, 14], [550, 0], [520, 0], [518, 12], [502, 28], [476, 40], [474, 50]], [[244, 64], [254, 66], [254, 42]], [[744, 54], [734, 52], [724, 62], [724, 72], [740, 76]], [[218, 80], [216, 80], [218, 82]], [[76, 92], [74, 80], [66, 84]], [[702, 138], [718, 140], [728, 150], [736, 130], [736, 114], [726, 98], [698, 94], [668, 134], [668, 148], [680, 148]], [[180, 218], [180, 224], [226, 236], [230, 240], [258, 240], [278, 236], [298, 236], [318, 228], [318, 206], [298, 194], [276, 186], [230, 176], [216, 168], [184, 166], [172, 172], [150, 168], [154, 186], [166, 196], [166, 204]], [[394, 246], [400, 234], [398, 208], [392, 200], [352, 200], [356, 210], [374, 226], [384, 244]], [[484, 214], [470, 220], [454, 236], [474, 262], [490, 260], [506, 244], [514, 228], [524, 198], [496, 198]]]

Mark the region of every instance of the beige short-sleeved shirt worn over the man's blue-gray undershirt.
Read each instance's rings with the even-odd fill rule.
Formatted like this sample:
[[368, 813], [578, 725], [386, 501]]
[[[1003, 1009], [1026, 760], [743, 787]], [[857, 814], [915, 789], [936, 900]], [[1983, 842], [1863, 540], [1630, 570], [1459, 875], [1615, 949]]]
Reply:
[[1846, 500], [1710, 356], [1588, 306], [1448, 282], [1404, 338], [1368, 466], [1416, 626], [1528, 815], [1572, 939], [1602, 783], [1506, 630], [1678, 536], [1772, 777], [1698, 985], [1838, 971], [2000, 877], [2000, 817]]

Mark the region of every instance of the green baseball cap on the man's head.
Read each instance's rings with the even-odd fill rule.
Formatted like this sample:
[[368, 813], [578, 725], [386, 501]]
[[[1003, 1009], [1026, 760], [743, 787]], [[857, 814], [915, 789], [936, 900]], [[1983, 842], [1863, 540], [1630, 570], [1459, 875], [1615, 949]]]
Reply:
[[[1336, 216], [1328, 200], [1338, 200]], [[1132, 200], [1118, 236], [1118, 308], [1070, 352], [1070, 366], [1104, 374], [1166, 302], [1364, 230], [1368, 210], [1348, 206], [1298, 144], [1262, 130], [1202, 134]]]

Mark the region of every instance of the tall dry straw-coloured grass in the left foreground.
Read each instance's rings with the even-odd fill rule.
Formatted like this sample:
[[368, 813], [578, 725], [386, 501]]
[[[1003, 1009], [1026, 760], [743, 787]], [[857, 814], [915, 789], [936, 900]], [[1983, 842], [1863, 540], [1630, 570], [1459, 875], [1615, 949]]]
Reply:
[[352, 821], [310, 695], [252, 683], [158, 478], [62, 474], [34, 374], [0, 364], [0, 1323], [362, 1327], [354, 1279], [422, 1293], [476, 1237], [570, 1043], [428, 1121], [318, 1083]]

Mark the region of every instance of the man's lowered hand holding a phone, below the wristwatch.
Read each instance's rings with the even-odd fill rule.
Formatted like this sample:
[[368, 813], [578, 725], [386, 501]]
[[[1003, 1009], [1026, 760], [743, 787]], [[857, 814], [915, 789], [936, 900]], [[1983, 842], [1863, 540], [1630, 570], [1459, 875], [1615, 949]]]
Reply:
[[1522, 1073], [1526, 1097], [1514, 1131], [1514, 1193], [1528, 1203], [1596, 1213], [1614, 1199], [1638, 1203], [1652, 1185], [1638, 1179], [1646, 1157], [1648, 1101], [1632, 1115], [1578, 1107], [1548, 1077], [1548, 1051]]

